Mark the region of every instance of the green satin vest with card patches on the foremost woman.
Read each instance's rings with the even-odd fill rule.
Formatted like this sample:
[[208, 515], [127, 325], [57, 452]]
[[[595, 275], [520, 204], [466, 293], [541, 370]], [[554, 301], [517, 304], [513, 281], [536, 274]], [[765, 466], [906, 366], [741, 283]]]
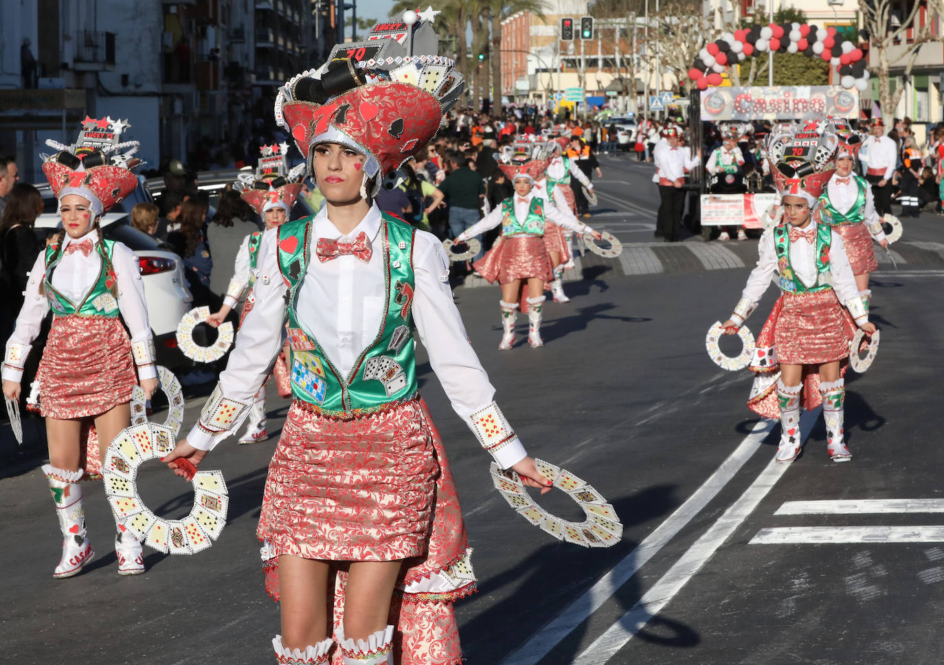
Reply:
[[298, 288], [311, 260], [313, 215], [278, 227], [278, 269], [289, 287], [286, 300], [292, 395], [331, 416], [356, 418], [413, 399], [417, 393], [411, 332], [415, 229], [387, 213], [382, 216], [379, 233], [386, 305], [377, 336], [346, 376], [334, 367], [312, 332], [305, 329], [295, 309]]

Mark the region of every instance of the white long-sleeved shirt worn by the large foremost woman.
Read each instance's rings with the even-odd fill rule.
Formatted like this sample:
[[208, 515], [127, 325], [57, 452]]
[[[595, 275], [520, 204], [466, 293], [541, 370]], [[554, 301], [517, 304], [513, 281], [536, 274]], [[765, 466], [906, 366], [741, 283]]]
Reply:
[[[348, 374], [364, 348], [377, 336], [383, 323], [384, 285], [383, 235], [380, 209], [375, 204], [361, 224], [347, 236], [328, 219], [322, 208], [312, 222], [311, 260], [296, 295], [299, 320], [317, 340], [322, 351], [342, 374]], [[266, 231], [259, 249], [259, 276], [253, 285], [256, 299], [236, 336], [227, 369], [220, 374], [224, 397], [244, 404], [252, 402], [282, 349], [287, 312], [288, 287], [278, 270], [278, 229]], [[315, 256], [319, 238], [353, 241], [364, 232], [372, 254], [364, 263], [352, 255], [322, 262]], [[449, 288], [449, 259], [443, 245], [431, 233], [416, 231], [413, 239], [413, 324], [419, 341], [430, 356], [430, 366], [452, 404], [464, 420], [492, 403], [495, 388], [481, 367], [465, 334], [462, 317], [452, 302]], [[211, 450], [239, 426], [211, 435], [198, 426], [187, 441], [200, 450]], [[507, 469], [526, 456], [517, 439], [494, 453]]]

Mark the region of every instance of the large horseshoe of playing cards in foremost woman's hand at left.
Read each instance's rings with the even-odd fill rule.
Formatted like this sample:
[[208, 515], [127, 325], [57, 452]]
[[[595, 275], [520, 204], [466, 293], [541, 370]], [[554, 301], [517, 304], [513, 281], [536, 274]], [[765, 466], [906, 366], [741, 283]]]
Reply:
[[194, 474], [194, 507], [182, 520], [158, 517], [141, 500], [138, 467], [174, 450], [175, 437], [160, 424], [136, 424], [123, 429], [108, 449], [102, 467], [105, 493], [119, 524], [144, 544], [160, 552], [194, 554], [211, 546], [227, 522], [229, 495], [219, 471]]

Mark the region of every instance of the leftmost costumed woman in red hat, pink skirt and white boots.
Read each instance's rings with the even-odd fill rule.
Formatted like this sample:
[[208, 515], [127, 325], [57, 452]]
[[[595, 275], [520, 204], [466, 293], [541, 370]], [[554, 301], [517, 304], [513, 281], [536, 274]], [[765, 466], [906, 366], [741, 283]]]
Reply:
[[[79, 480], [98, 477], [108, 443], [130, 425], [135, 383], [140, 380], [148, 398], [158, 387], [138, 258], [121, 242], [104, 239], [99, 226], [138, 185], [129, 169], [140, 163], [133, 157], [138, 142], [119, 142], [128, 126], [87, 118], [75, 144], [47, 141], [59, 152], [44, 156], [42, 173], [59, 199], [63, 230], [33, 264], [3, 365], [4, 394], [19, 399], [25, 358], [51, 308], [37, 380], [49, 443], [42, 472], [63, 539], [54, 577], [78, 574], [92, 560]], [[91, 424], [98, 445], [89, 439]], [[141, 543], [117, 517], [115, 524], [118, 574], [143, 573]]]

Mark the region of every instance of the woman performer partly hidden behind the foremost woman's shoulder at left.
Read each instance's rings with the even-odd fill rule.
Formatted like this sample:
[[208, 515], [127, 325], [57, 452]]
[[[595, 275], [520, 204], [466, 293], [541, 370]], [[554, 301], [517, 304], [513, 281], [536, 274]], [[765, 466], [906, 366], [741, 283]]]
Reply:
[[[265, 230], [278, 228], [289, 218], [298, 192], [301, 191], [306, 166], [299, 164], [291, 171], [285, 159], [288, 152], [288, 143], [281, 145], [263, 145], [261, 158], [256, 167], [255, 175], [241, 174], [236, 189], [243, 200], [249, 204], [262, 218]], [[229, 280], [223, 307], [211, 314], [207, 323], [217, 327], [226, 321], [229, 312], [236, 307], [245, 294], [245, 305], [240, 314], [240, 324], [243, 324], [246, 314], [252, 309], [255, 298], [252, 287], [256, 281], [259, 263], [259, 248], [262, 241], [262, 232], [254, 231], [247, 235], [243, 244], [236, 253], [233, 265], [233, 276]], [[289, 384], [288, 367], [285, 364], [285, 354], [279, 354], [272, 374], [276, 377], [278, 394], [288, 397], [292, 394]], [[238, 443], [257, 443], [269, 438], [269, 431], [265, 423], [265, 386], [256, 393], [252, 408], [249, 410], [245, 432]]]

